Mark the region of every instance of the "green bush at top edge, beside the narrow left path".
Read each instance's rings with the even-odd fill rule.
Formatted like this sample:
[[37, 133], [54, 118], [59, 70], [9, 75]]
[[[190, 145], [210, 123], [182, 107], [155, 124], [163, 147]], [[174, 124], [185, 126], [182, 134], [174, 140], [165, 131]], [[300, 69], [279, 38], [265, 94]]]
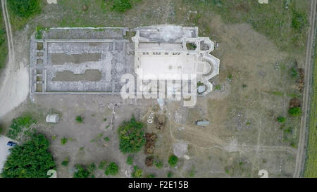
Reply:
[[29, 18], [41, 12], [40, 0], [8, 0], [8, 7], [21, 18]]

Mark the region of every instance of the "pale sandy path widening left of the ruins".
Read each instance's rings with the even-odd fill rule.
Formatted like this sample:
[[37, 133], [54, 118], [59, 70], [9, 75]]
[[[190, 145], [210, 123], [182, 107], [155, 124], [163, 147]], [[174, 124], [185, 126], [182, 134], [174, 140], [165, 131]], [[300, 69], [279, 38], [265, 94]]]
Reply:
[[13, 34], [11, 23], [6, 8], [6, 0], [1, 0], [1, 8], [4, 13], [4, 23], [8, 39], [8, 63], [2, 75], [0, 85], [0, 117], [13, 110], [25, 101], [29, 93], [29, 75], [25, 58], [16, 58], [13, 47]]

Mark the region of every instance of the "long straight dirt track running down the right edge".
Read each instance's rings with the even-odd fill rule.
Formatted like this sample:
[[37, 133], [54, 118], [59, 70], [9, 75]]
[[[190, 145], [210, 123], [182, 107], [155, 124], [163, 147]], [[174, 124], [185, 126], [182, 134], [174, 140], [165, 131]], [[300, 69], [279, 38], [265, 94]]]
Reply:
[[313, 51], [313, 39], [316, 34], [316, 6], [317, 0], [311, 0], [310, 26], [309, 37], [307, 40], [307, 52], [305, 63], [305, 89], [303, 95], [303, 116], [301, 121], [301, 128], [299, 130], [299, 144], [296, 157], [296, 166], [293, 177], [301, 177], [305, 164], [306, 151], [306, 122], [309, 117], [309, 91], [311, 89], [311, 53]]

